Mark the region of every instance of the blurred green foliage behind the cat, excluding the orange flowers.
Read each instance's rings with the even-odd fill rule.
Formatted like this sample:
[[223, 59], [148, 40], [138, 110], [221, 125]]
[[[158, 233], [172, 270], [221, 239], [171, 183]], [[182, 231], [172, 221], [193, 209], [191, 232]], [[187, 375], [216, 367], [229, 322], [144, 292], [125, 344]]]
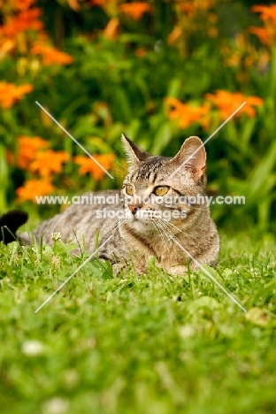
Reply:
[[[4, 147], [14, 149], [19, 134], [40, 135], [50, 140], [52, 149], [65, 149], [72, 157], [81, 154], [81, 149], [56, 124], [45, 119], [35, 105], [36, 100], [90, 153], [114, 152], [120, 162], [121, 133], [143, 149], [167, 156], [175, 154], [188, 135], [208, 138], [222, 123], [218, 111], [211, 111], [208, 129], [199, 123], [180, 129], [165, 112], [164, 99], [172, 96], [183, 103], [200, 105], [206, 93], [224, 89], [242, 92], [244, 96], [260, 96], [264, 105], [257, 109], [254, 118], [242, 115], [229, 121], [206, 145], [210, 193], [246, 198], [243, 206], [214, 205], [212, 214], [219, 226], [226, 228], [231, 228], [234, 222], [242, 228], [275, 229], [275, 47], [267, 52], [256, 39], [249, 37], [247, 28], [257, 24], [258, 19], [244, 4], [224, 1], [216, 2], [211, 11], [219, 15], [218, 37], [208, 35], [210, 24], [203, 14], [194, 22], [197, 30], [186, 28], [187, 35], [184, 33], [179, 42], [171, 45], [167, 36], [173, 30], [173, 23], [181, 26], [183, 22], [173, 2], [151, 4], [154, 12], [140, 21], [120, 15], [119, 35], [113, 40], [103, 34], [112, 16], [108, 7], [84, 5], [73, 12], [66, 2], [39, 4], [51, 38], [74, 61], [63, 67], [40, 67], [37, 72], [32, 65], [19, 71], [14, 57], [3, 60], [0, 77], [11, 82], [24, 80], [35, 89], [3, 113], [1, 211], [7, 208], [7, 195], [9, 205], [14, 203], [15, 188], [27, 177], [14, 167], [8, 177], [4, 162]], [[224, 25], [227, 17], [229, 22]], [[231, 21], [234, 32], [230, 29]], [[58, 27], [63, 27], [63, 35]], [[247, 39], [246, 47], [237, 41], [241, 34]], [[144, 54], [139, 55], [139, 50]], [[240, 63], [226, 65], [225, 50], [231, 56], [241, 56]], [[258, 62], [265, 52], [271, 53], [271, 60], [260, 68]], [[246, 58], [252, 58], [251, 65], [245, 65]], [[125, 173], [119, 169], [119, 164], [115, 164], [111, 172], [116, 180], [105, 177], [96, 183], [93, 179], [89, 182], [87, 177], [84, 183], [69, 162], [65, 165], [65, 175], [70, 178], [70, 185], [65, 186], [62, 179], [59, 188], [79, 193], [86, 188], [119, 187]]]

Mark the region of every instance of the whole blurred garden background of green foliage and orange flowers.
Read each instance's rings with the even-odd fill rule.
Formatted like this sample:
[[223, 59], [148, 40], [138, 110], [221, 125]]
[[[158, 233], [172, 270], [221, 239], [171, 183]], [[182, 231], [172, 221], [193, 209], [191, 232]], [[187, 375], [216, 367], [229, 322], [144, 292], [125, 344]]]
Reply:
[[[0, 214], [35, 196], [119, 188], [120, 135], [174, 155], [207, 139], [220, 228], [275, 231], [276, 4], [230, 0], [2, 0]], [[111, 180], [35, 103], [50, 111]]]

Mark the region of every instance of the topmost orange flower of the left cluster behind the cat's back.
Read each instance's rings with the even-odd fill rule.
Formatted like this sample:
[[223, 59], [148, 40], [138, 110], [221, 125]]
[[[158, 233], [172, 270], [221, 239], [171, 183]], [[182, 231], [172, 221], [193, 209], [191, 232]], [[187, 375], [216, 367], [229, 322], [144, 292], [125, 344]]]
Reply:
[[18, 138], [19, 141], [19, 157], [17, 165], [23, 170], [27, 168], [30, 162], [35, 158], [35, 154], [40, 149], [46, 149], [49, 147], [49, 142], [43, 140], [40, 136], [21, 135]]

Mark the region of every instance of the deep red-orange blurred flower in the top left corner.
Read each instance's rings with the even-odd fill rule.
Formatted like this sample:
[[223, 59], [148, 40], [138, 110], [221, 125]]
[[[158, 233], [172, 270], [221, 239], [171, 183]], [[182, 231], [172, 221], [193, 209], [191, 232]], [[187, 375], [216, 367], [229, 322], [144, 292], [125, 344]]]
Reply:
[[20, 32], [26, 30], [40, 31], [43, 28], [43, 23], [38, 18], [42, 11], [35, 7], [34, 9], [20, 12], [17, 16], [12, 17], [3, 27], [0, 28], [0, 35], [15, 37]]

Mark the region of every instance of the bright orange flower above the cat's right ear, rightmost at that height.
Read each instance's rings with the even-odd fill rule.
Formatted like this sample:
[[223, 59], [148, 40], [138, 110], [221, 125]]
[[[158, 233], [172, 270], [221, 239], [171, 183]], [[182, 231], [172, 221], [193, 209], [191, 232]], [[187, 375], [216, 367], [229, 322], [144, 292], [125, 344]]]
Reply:
[[264, 103], [263, 99], [258, 96], [244, 96], [240, 92], [232, 93], [227, 90], [217, 90], [216, 94], [206, 94], [205, 97], [218, 107], [220, 118], [223, 120], [229, 118], [244, 102], [246, 104], [234, 116], [240, 117], [242, 113], [246, 113], [253, 118], [256, 115], [254, 106]]

